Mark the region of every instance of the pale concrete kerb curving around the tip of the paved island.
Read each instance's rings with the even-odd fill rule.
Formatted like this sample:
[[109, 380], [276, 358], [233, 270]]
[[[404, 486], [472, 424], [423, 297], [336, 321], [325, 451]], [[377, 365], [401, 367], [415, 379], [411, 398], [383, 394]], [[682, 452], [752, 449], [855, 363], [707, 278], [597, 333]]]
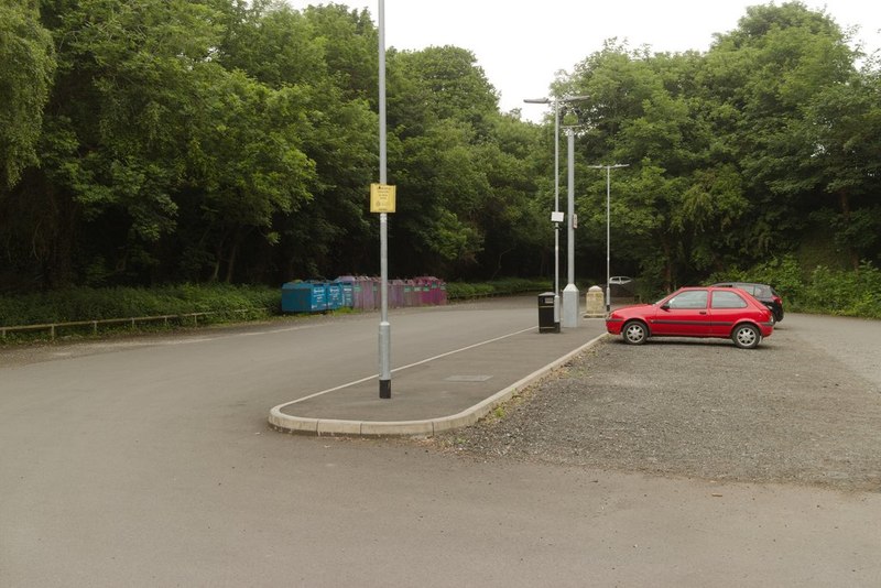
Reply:
[[[535, 370], [525, 378], [514, 382], [504, 390], [497, 392], [490, 398], [475, 404], [474, 406], [449, 416], [442, 416], [438, 418], [426, 418], [422, 421], [344, 421], [337, 418], [314, 418], [304, 416], [293, 416], [282, 412], [282, 409], [294, 405], [302, 400], [286, 402], [279, 404], [270, 411], [269, 424], [275, 431], [281, 433], [291, 434], [305, 434], [305, 435], [328, 435], [328, 436], [365, 436], [365, 437], [431, 437], [445, 431], [461, 428], [465, 426], [474, 425], [480, 418], [489, 414], [496, 406], [509, 401], [520, 390], [531, 385], [542, 378], [546, 377], [552, 371], [565, 364], [573, 357], [586, 351], [595, 346], [601, 339], [607, 337], [608, 334], [602, 334], [594, 339], [587, 341], [585, 345], [575, 349], [548, 363], [547, 366]], [[339, 390], [345, 386], [339, 386]]]

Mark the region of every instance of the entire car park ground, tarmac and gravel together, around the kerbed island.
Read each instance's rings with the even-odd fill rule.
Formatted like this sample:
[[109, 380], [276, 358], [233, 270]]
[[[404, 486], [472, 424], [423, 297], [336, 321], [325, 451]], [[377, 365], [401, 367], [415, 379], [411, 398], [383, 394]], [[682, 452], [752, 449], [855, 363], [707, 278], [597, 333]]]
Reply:
[[[393, 313], [396, 361], [523, 303]], [[4, 349], [0, 586], [881, 586], [880, 328], [608, 338], [447, 443], [268, 426], [322, 361], [371, 373], [376, 315]]]

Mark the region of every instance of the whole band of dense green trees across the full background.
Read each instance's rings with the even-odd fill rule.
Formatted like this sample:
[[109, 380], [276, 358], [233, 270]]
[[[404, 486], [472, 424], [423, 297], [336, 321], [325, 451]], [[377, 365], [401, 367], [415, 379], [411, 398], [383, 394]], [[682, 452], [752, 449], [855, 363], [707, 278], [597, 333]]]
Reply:
[[[377, 273], [377, 44], [335, 3], [4, 3], [1, 287]], [[587, 97], [564, 105], [579, 276], [605, 274], [590, 166], [614, 163], [614, 273], [670, 288], [818, 241], [878, 264], [874, 57], [800, 2], [748, 9], [706, 53], [584, 57], [552, 85]], [[548, 276], [553, 115], [500, 112], [467, 48], [390, 47], [387, 66], [391, 272]]]

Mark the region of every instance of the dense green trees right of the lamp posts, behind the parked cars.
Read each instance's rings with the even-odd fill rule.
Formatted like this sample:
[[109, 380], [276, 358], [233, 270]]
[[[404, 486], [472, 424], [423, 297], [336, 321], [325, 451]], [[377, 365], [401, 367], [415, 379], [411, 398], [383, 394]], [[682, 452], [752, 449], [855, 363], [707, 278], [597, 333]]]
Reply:
[[[665, 288], [817, 235], [853, 269], [877, 263], [881, 95], [877, 64], [858, 70], [867, 56], [848, 41], [798, 2], [758, 6], [706, 54], [609, 43], [558, 80], [589, 96], [575, 105], [580, 161], [630, 165], [614, 172], [613, 258]], [[579, 207], [595, 250], [605, 187], [597, 177]]]

